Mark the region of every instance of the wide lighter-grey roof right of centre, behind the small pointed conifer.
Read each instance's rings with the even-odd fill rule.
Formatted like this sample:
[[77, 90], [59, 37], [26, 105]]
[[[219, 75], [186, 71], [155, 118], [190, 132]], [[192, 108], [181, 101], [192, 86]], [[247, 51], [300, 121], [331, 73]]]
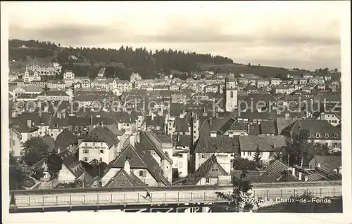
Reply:
[[239, 136], [241, 151], [275, 152], [277, 147], [286, 145], [284, 136]]

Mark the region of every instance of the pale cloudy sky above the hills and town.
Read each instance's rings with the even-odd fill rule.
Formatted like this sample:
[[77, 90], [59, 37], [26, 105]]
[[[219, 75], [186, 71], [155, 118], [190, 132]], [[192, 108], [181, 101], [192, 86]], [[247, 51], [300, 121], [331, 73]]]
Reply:
[[172, 48], [251, 65], [341, 68], [339, 1], [6, 2], [9, 38]]

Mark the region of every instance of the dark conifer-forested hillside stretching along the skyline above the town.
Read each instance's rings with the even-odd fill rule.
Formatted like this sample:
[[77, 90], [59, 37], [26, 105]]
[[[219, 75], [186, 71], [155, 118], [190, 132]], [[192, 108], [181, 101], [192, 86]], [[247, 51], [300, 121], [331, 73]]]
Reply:
[[[25, 46], [25, 47], [23, 47]], [[128, 79], [132, 72], [139, 72], [144, 79], [156, 78], [158, 72], [170, 73], [171, 70], [192, 72], [201, 70], [197, 63], [209, 62], [215, 65], [231, 64], [230, 58], [218, 55], [189, 53], [165, 50], [151, 52], [146, 48], [121, 46], [112, 48], [62, 48], [49, 41], [9, 40], [9, 59], [27, 60], [47, 58], [61, 62], [64, 70], [73, 70], [77, 76], [96, 76], [100, 67], [106, 67], [106, 76], [114, 74], [120, 79]], [[74, 57], [73, 57], [74, 56]]]

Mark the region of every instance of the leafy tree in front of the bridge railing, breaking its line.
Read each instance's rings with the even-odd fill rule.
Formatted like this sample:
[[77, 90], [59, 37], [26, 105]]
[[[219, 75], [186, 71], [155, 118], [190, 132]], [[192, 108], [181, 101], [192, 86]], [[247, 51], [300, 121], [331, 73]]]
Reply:
[[226, 199], [230, 206], [228, 209], [233, 209], [234, 212], [249, 212], [258, 208], [260, 200], [258, 198], [254, 199], [251, 196], [252, 184], [249, 180], [246, 179], [247, 171], [242, 170], [239, 178], [232, 176], [232, 194], [226, 194], [224, 192], [215, 192], [218, 197]]

